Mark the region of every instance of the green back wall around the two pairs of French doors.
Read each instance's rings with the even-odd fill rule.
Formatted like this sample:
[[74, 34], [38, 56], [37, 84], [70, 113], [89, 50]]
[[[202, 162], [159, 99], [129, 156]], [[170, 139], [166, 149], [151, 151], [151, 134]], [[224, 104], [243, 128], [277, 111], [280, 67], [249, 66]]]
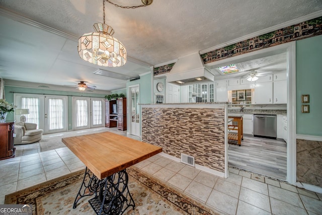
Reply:
[[[72, 116], [71, 116], [71, 105], [72, 105], [72, 96], [79, 97], [94, 97], [94, 98], [104, 98], [105, 95], [95, 94], [95, 93], [78, 93], [78, 92], [69, 92], [69, 91], [58, 91], [58, 90], [46, 90], [46, 89], [34, 89], [34, 88], [24, 88], [24, 87], [12, 87], [5, 86], [5, 96], [6, 101], [9, 103], [14, 102], [14, 93], [29, 93], [29, 94], [42, 94], [42, 95], [59, 95], [68, 97], [68, 130], [72, 129]], [[9, 113], [7, 116], [7, 121], [13, 121], [14, 114]]]

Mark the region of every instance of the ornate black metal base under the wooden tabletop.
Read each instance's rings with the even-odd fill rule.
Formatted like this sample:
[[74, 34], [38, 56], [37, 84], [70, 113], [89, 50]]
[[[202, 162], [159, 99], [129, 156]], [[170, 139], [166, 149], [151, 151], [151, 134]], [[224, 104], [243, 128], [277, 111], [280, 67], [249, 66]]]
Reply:
[[134, 209], [135, 203], [127, 183], [128, 175], [125, 169], [99, 180], [86, 167], [84, 179], [75, 198], [73, 208], [76, 208], [79, 199], [95, 194], [95, 197], [90, 199], [89, 202], [98, 215], [122, 214], [130, 206]]

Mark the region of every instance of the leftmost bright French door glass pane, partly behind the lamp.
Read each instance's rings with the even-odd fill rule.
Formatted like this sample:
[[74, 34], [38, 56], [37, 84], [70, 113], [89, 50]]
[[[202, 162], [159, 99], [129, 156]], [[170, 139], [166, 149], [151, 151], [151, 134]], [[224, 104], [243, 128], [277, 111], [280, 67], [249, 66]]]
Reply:
[[36, 123], [39, 125], [39, 99], [38, 98], [21, 98], [21, 108], [29, 109], [29, 114], [26, 114], [26, 122]]

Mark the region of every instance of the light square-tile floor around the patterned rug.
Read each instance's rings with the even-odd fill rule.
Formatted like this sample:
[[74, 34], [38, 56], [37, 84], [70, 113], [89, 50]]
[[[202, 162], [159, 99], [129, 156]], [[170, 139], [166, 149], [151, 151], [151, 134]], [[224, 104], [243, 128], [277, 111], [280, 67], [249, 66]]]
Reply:
[[[0, 204], [8, 193], [85, 168], [66, 147], [40, 152], [39, 144], [21, 145], [17, 152], [20, 156], [0, 161]], [[238, 169], [229, 168], [229, 178], [224, 179], [160, 155], [136, 166], [223, 214], [322, 211], [322, 194]]]

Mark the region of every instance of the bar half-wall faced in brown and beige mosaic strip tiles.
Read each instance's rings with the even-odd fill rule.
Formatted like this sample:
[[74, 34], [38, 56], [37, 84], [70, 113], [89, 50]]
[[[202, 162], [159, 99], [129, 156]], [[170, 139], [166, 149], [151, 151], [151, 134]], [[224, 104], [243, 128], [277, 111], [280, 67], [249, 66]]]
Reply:
[[[152, 105], [151, 105], [152, 106]], [[180, 105], [179, 105], [180, 106]], [[142, 107], [142, 141], [225, 172], [225, 108]]]

